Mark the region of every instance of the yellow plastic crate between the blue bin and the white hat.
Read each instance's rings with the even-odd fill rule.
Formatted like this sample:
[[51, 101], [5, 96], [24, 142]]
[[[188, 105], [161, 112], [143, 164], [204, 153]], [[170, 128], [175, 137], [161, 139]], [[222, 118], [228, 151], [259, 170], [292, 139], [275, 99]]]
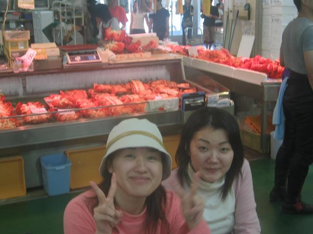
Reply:
[[67, 150], [65, 154], [72, 162], [70, 169], [71, 189], [89, 186], [89, 181], [102, 182], [103, 178], [99, 173], [99, 166], [104, 156], [106, 147], [92, 147], [79, 150]]

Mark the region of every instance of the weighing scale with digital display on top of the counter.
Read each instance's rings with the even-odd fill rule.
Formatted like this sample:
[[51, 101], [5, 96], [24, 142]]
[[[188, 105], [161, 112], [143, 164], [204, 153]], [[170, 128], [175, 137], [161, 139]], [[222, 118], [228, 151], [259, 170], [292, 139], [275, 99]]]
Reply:
[[92, 63], [101, 65], [102, 59], [97, 52], [96, 45], [66, 45], [60, 46], [62, 54], [66, 57], [67, 66]]

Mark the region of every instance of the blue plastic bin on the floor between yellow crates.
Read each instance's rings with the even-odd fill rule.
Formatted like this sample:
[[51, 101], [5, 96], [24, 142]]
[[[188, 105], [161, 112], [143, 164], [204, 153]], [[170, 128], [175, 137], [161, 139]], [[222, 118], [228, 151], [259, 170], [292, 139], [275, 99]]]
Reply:
[[69, 192], [71, 162], [65, 154], [40, 157], [45, 192], [49, 196]]

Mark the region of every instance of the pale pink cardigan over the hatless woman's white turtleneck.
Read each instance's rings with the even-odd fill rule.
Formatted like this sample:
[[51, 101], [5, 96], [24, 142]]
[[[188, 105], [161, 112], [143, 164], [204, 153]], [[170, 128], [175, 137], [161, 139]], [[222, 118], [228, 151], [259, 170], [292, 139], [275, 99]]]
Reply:
[[[245, 159], [241, 169], [242, 176], [235, 177], [233, 188], [235, 192], [235, 226], [234, 234], [260, 234], [261, 227], [256, 213], [256, 204], [253, 194], [252, 175], [249, 162]], [[179, 183], [177, 169], [172, 175], [162, 182], [165, 188], [171, 188], [172, 184]], [[209, 199], [209, 197], [203, 197]]]

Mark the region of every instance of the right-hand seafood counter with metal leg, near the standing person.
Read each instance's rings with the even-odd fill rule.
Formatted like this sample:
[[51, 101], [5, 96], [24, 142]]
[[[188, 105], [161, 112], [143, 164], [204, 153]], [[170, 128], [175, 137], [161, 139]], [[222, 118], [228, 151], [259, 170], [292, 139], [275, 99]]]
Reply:
[[[197, 81], [197, 77], [199, 77], [199, 75], [197, 75], [197, 72], [195, 72], [194, 70], [196, 68], [198, 70], [201, 70], [201, 73], [205, 74], [207, 77], [217, 81], [219, 84], [229, 89], [230, 92], [245, 95], [251, 98], [256, 98], [261, 101], [261, 149], [263, 153], [268, 153], [266, 143], [269, 140], [269, 136], [266, 134], [268, 114], [267, 106], [268, 102], [277, 100], [281, 80], [270, 80], [267, 82], [266, 75], [262, 76], [262, 74], [257, 74], [253, 71], [250, 72], [250, 80], [249, 77], [247, 77], [249, 75], [249, 71], [246, 71], [246, 73], [244, 74], [245, 77], [242, 77], [242, 79], [240, 76], [237, 76], [237, 78], [233, 78], [232, 69], [234, 68], [231, 68], [229, 66], [219, 65], [221, 67], [224, 66], [224, 70], [212, 70], [210, 69], [210, 66], [206, 65], [207, 62], [204, 60], [190, 58], [184, 58], [183, 60], [185, 70], [189, 71], [188, 77], [193, 78], [191, 80], [201, 82], [201, 84], [205, 83], [204, 79], [201, 79], [201, 81]], [[197, 63], [194, 63], [194, 61], [197, 61]], [[257, 78], [260, 79], [253, 80], [253, 76], [255, 75], [258, 75]]]

